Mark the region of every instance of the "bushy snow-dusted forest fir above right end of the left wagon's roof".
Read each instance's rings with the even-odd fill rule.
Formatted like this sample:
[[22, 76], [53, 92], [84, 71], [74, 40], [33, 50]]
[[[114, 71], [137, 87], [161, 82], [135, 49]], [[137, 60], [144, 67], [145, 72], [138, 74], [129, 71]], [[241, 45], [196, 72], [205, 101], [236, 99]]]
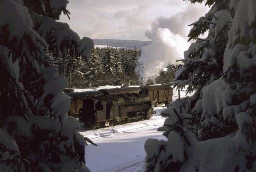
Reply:
[[95, 47], [93, 47], [93, 49], [91, 49], [90, 60], [84, 65], [85, 75], [89, 76], [90, 78], [93, 78], [95, 74], [101, 72], [102, 70], [103, 69], [100, 58], [95, 51]]

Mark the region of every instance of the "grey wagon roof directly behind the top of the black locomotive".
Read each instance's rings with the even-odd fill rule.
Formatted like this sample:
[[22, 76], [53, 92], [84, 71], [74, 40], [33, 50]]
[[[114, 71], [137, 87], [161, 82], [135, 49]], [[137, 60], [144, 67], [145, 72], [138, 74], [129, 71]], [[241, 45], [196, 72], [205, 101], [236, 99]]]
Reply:
[[99, 91], [103, 92], [104, 95], [118, 95], [118, 94], [125, 94], [125, 93], [139, 93], [141, 89], [138, 87], [124, 87], [124, 88], [99, 89]]

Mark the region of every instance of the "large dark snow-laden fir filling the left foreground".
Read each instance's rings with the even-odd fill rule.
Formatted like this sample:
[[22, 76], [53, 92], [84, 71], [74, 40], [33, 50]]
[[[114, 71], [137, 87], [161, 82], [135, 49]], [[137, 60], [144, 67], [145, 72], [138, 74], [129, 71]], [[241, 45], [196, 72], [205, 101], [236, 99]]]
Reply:
[[63, 56], [69, 49], [89, 61], [93, 41], [55, 21], [69, 14], [67, 3], [0, 2], [0, 171], [90, 171], [79, 123], [66, 115], [67, 79], [46, 53]]

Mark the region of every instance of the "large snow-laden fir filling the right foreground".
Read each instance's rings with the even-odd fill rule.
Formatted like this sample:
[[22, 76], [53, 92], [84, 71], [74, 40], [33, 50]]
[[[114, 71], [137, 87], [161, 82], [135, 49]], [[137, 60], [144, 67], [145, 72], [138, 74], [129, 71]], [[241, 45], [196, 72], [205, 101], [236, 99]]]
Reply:
[[146, 141], [147, 171], [256, 171], [256, 2], [205, 3], [174, 84], [196, 92], [161, 112], [167, 141]]

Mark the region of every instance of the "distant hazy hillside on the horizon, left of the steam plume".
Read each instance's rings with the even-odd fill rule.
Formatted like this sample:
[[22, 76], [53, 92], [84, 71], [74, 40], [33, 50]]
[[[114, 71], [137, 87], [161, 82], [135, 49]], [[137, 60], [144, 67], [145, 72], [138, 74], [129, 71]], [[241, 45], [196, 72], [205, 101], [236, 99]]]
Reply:
[[126, 47], [137, 49], [142, 48], [144, 45], [151, 44], [152, 41], [138, 41], [138, 40], [120, 40], [120, 39], [93, 39], [94, 44], [98, 45], [110, 45], [112, 47]]

